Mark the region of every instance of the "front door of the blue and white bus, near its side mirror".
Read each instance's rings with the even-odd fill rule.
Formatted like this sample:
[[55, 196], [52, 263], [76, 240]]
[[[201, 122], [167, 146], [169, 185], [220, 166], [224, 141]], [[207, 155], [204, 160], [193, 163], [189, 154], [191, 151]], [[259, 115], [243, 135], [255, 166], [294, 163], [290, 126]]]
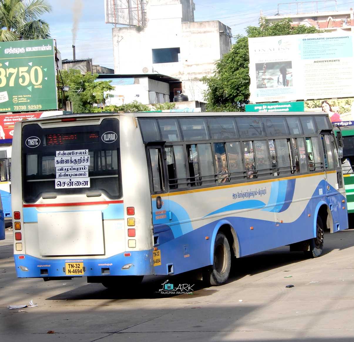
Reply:
[[[342, 184], [342, 171], [339, 167], [339, 160], [335, 150], [334, 139], [330, 132], [321, 132], [321, 143], [324, 155], [324, 168], [325, 168], [325, 191], [326, 196], [329, 197], [329, 206], [332, 212], [333, 221], [339, 222], [339, 212], [341, 209], [341, 202], [338, 196], [339, 188], [343, 187]], [[330, 172], [333, 170], [334, 172]], [[336, 229], [335, 229], [336, 231]]]

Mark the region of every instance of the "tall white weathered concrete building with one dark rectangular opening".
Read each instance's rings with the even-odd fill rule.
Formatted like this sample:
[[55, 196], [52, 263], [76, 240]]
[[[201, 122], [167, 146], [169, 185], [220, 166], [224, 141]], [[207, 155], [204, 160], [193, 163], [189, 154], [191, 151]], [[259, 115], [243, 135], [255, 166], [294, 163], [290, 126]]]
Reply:
[[230, 51], [231, 29], [194, 22], [193, 0], [149, 0], [144, 13], [144, 25], [112, 29], [115, 73], [169, 75], [180, 80], [176, 95], [202, 101], [200, 78], [213, 75], [215, 61]]

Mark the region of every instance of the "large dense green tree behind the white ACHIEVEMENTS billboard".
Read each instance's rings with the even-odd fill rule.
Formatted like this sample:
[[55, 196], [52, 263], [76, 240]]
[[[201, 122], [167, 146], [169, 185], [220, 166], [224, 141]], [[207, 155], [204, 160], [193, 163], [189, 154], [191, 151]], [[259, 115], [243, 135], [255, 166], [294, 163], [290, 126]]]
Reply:
[[248, 26], [246, 36], [238, 35], [231, 51], [215, 63], [215, 75], [203, 77], [207, 85], [205, 99], [208, 111], [232, 112], [244, 111], [249, 102], [250, 77], [248, 38], [285, 36], [293, 34], [308, 34], [322, 32], [315, 27], [305, 25], [291, 26], [287, 18], [275, 23], [269, 23], [265, 18], [259, 19], [259, 26]]

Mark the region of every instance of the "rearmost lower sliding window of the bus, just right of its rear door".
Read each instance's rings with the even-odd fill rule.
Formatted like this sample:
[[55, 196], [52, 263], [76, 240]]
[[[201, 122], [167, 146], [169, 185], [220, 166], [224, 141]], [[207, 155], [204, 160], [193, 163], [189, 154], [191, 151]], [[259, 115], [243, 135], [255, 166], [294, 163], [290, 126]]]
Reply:
[[183, 146], [165, 147], [170, 189], [187, 188], [187, 166]]

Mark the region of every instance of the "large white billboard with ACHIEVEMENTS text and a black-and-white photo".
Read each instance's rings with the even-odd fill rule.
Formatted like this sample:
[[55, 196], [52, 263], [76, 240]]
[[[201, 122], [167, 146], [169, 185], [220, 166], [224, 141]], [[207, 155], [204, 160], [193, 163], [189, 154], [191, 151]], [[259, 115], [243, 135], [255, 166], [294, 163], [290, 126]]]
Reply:
[[248, 41], [251, 103], [354, 96], [351, 32]]

